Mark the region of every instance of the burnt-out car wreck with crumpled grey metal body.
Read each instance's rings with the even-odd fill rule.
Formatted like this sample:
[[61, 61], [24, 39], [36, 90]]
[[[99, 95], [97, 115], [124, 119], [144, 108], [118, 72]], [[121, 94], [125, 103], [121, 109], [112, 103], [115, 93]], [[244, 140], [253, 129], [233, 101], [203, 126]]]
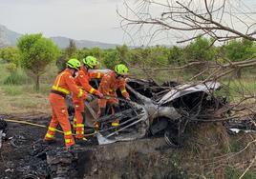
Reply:
[[[97, 88], [98, 81], [93, 80], [92, 86]], [[226, 105], [224, 98], [212, 95], [212, 91], [220, 88], [218, 82], [185, 85], [168, 82], [159, 86], [152, 80], [127, 78], [126, 89], [131, 101], [123, 99], [117, 90], [121, 112], [112, 114], [107, 108], [108, 115], [97, 118], [97, 100], [85, 102], [85, 131], [93, 129], [97, 121], [99, 145], [163, 135], [168, 145], [179, 147], [189, 122], [212, 118], [216, 110]], [[69, 111], [73, 119], [71, 105]], [[117, 118], [119, 126], [112, 127], [111, 122]]]

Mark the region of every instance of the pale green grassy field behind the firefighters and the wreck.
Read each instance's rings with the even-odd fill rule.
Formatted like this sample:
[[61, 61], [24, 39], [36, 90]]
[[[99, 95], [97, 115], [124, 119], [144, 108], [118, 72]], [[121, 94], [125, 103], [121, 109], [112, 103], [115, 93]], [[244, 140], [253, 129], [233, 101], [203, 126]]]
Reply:
[[[22, 83], [20, 85], [6, 85], [5, 81], [11, 75], [7, 67], [8, 64], [0, 60], [0, 114], [50, 113], [48, 95], [57, 74], [56, 67], [53, 64], [50, 65], [47, 68], [47, 72], [41, 76], [39, 91], [33, 89], [32, 79], [21, 69], [16, 72], [21, 76]], [[191, 77], [190, 75], [185, 75], [182, 71], [160, 71], [152, 75], [145, 73], [143, 70], [131, 69], [131, 74], [137, 78], [153, 76], [153, 79], [157, 80], [159, 84], [164, 81], [182, 83]], [[254, 73], [246, 72], [241, 80], [229, 78], [224, 79], [221, 83], [223, 83], [224, 88], [219, 91], [219, 94], [228, 96], [230, 101], [239, 101], [242, 94], [256, 95], [256, 75]]]

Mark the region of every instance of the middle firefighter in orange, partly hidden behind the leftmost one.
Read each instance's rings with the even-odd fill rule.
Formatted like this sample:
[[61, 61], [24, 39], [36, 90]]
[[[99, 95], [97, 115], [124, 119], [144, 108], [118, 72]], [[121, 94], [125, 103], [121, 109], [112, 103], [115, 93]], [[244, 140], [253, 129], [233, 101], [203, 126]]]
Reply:
[[[78, 75], [75, 77], [75, 84], [85, 91], [98, 96], [99, 98], [103, 97], [103, 94], [98, 90], [94, 89], [89, 81], [91, 78], [102, 78], [104, 75], [101, 72], [90, 72], [88, 70], [94, 70], [97, 67], [97, 60], [93, 56], [87, 56], [82, 60], [83, 65], [78, 70]], [[81, 98], [77, 98], [73, 95], [73, 103], [75, 106], [75, 118], [74, 118], [74, 129], [75, 129], [75, 138], [77, 141], [86, 140], [84, 138], [84, 123], [83, 123], [83, 114], [84, 114], [84, 101]]]

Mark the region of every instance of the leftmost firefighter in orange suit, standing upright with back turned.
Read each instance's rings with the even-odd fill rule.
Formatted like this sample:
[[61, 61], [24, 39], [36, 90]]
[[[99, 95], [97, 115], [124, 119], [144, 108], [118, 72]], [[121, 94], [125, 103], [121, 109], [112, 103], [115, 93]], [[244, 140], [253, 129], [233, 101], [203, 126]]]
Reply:
[[49, 96], [53, 110], [53, 117], [44, 141], [50, 143], [54, 140], [55, 130], [59, 124], [64, 132], [65, 145], [67, 149], [70, 149], [75, 145], [75, 141], [68, 118], [69, 116], [65, 97], [72, 92], [77, 98], [85, 99], [87, 98], [87, 93], [82, 89], [79, 89], [75, 84], [74, 77], [80, 68], [80, 62], [77, 59], [70, 59], [66, 65], [66, 70], [63, 70], [57, 75]]

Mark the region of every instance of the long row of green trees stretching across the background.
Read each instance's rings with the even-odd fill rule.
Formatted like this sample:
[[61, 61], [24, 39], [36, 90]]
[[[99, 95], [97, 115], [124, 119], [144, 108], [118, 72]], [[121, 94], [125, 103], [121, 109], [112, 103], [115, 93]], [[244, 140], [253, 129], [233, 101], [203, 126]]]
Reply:
[[[256, 44], [241, 38], [214, 45], [213, 39], [199, 36], [183, 47], [130, 48], [122, 45], [109, 50], [78, 50], [75, 42], [70, 40], [69, 47], [59, 50], [51, 39], [43, 37], [42, 34], [26, 34], [18, 40], [16, 47], [0, 49], [0, 58], [10, 64], [8, 68], [11, 71], [21, 67], [31, 74], [35, 89], [39, 89], [40, 76], [47, 72], [46, 67], [49, 64], [54, 63], [60, 71], [65, 68], [68, 59], [81, 60], [88, 55], [95, 56], [101, 68], [113, 69], [118, 63], [139, 68], [181, 67], [191, 62], [228, 63], [251, 59], [256, 56]], [[238, 74], [241, 75], [241, 71], [238, 70]]]

